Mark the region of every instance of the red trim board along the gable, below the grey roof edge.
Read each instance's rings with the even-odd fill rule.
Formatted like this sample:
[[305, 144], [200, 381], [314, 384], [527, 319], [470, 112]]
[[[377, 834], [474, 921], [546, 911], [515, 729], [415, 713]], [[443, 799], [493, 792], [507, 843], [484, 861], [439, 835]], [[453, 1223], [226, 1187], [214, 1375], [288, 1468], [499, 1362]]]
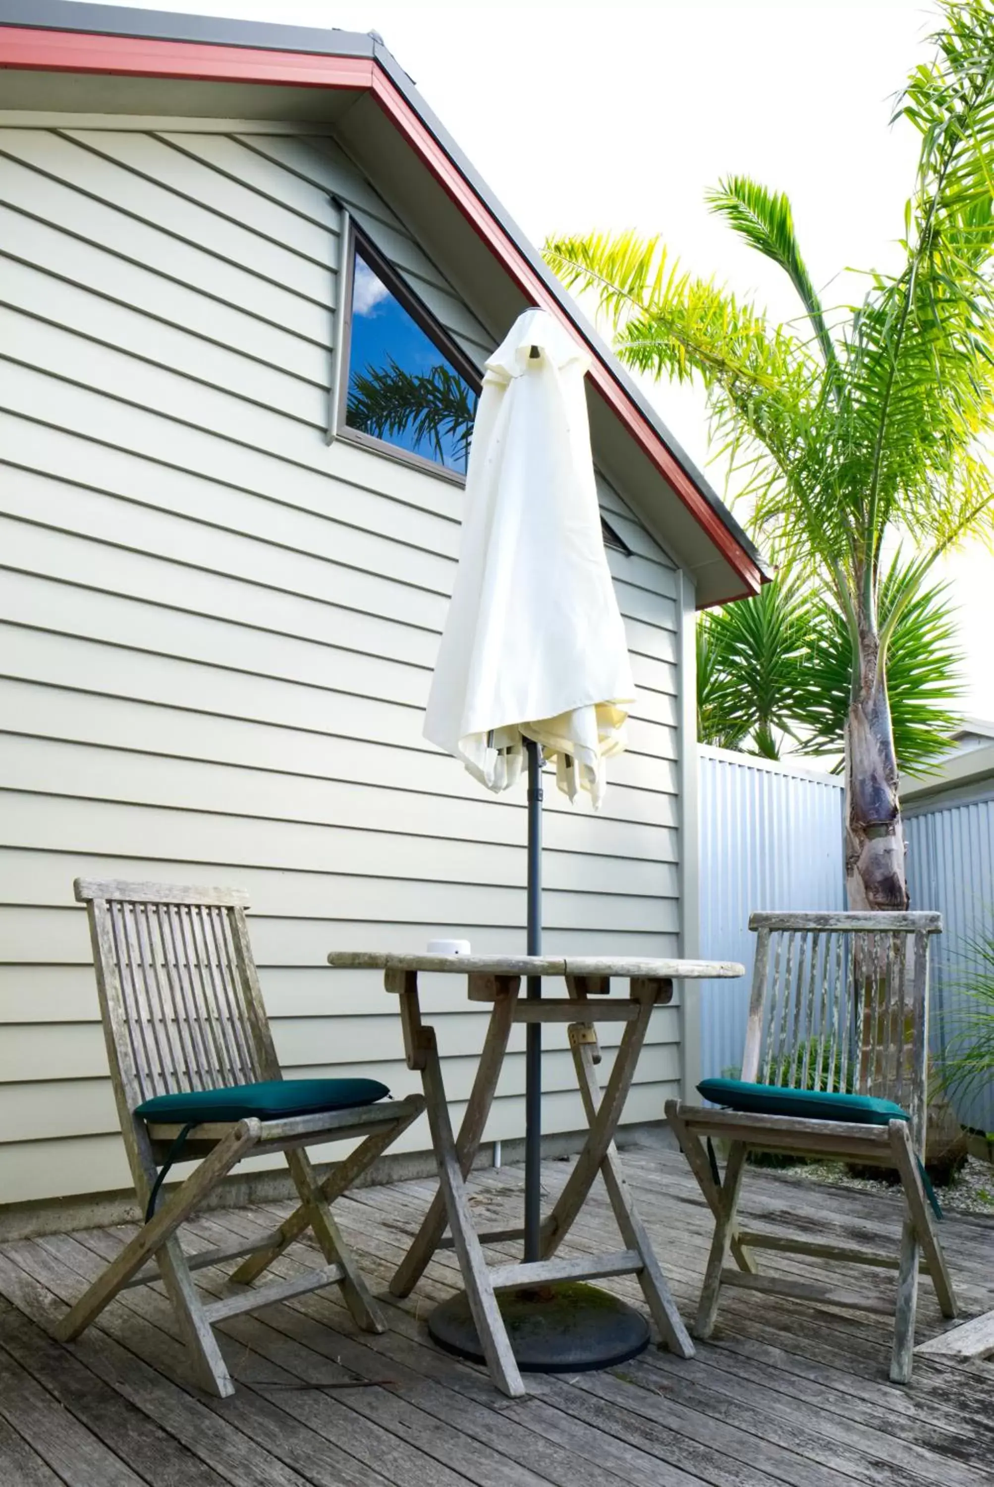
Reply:
[[[513, 238], [493, 219], [486, 204], [465, 180], [443, 146], [412, 109], [392, 79], [371, 58], [324, 57], [311, 52], [273, 52], [244, 46], [195, 42], [165, 42], [126, 36], [97, 36], [89, 31], [43, 31], [31, 27], [0, 27], [0, 68], [36, 71], [116, 73], [138, 77], [196, 77], [204, 82], [253, 82], [296, 88], [346, 88], [370, 91], [379, 107], [425, 162], [472, 229], [486, 242], [519, 288], [557, 318], [568, 317], [556, 296], [522, 257]], [[574, 335], [578, 327], [569, 320]], [[582, 333], [581, 333], [582, 335]], [[584, 338], [585, 341], [587, 338]], [[590, 343], [588, 343], [590, 345]], [[762, 575], [697, 489], [673, 452], [633, 406], [611, 366], [590, 345], [590, 378], [599, 394], [621, 419], [636, 443], [667, 480], [715, 547], [746, 584], [758, 593]]]

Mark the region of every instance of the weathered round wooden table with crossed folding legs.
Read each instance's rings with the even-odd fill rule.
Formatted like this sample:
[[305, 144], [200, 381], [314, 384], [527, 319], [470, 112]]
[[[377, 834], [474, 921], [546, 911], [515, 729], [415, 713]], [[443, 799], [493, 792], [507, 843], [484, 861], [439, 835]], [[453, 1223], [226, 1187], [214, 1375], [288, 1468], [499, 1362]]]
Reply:
[[[744, 975], [744, 967], [732, 961], [554, 955], [394, 955], [377, 950], [333, 950], [328, 955], [328, 965], [339, 970], [383, 971], [386, 990], [398, 996], [400, 1001], [407, 1066], [420, 1072], [425, 1088], [428, 1123], [438, 1163], [438, 1193], [391, 1280], [394, 1295], [409, 1295], [435, 1251], [452, 1246], [462, 1271], [465, 1301], [459, 1297], [453, 1298], [453, 1303], [443, 1303], [429, 1320], [429, 1329], [443, 1346], [474, 1356], [471, 1347], [456, 1341], [456, 1338], [465, 1337], [468, 1329], [470, 1335], [478, 1340], [478, 1355], [486, 1361], [493, 1381], [504, 1393], [513, 1396], [524, 1393], [519, 1364], [544, 1371], [594, 1367], [590, 1362], [578, 1361], [579, 1355], [574, 1356], [569, 1352], [572, 1344], [566, 1347], [566, 1356], [559, 1365], [541, 1359], [535, 1362], [533, 1358], [522, 1356], [522, 1347], [527, 1352], [529, 1335], [536, 1331], [532, 1325], [533, 1319], [530, 1319], [530, 1313], [535, 1310], [530, 1298], [544, 1294], [554, 1283], [569, 1282], [575, 1286], [576, 1282], [582, 1280], [634, 1274], [661, 1341], [679, 1356], [691, 1358], [694, 1344], [655, 1258], [645, 1224], [631, 1201], [614, 1145], [614, 1135], [631, 1087], [649, 1029], [649, 1019], [655, 1007], [672, 1002], [673, 981], [740, 977]], [[452, 1130], [435, 1029], [426, 1026], [420, 1017], [418, 993], [420, 972], [465, 975], [470, 1001], [490, 1004], [483, 1051], [458, 1138]], [[519, 999], [522, 977], [562, 977], [568, 995]], [[626, 998], [608, 996], [612, 978], [627, 983], [628, 995]], [[542, 1221], [542, 1257], [519, 1264], [489, 1267], [483, 1255], [483, 1245], [520, 1239], [523, 1230], [478, 1234], [472, 1222], [465, 1179], [472, 1167], [490, 1114], [511, 1028], [516, 1023], [532, 1022], [565, 1023], [568, 1026], [576, 1083], [590, 1129], [559, 1199]], [[600, 1062], [594, 1028], [597, 1022], [626, 1025], [611, 1077], [603, 1090], [596, 1075], [596, 1065]], [[605, 1255], [584, 1255], [575, 1259], [557, 1258], [556, 1251], [568, 1236], [599, 1172], [603, 1176], [624, 1248]], [[447, 1239], [444, 1237], [446, 1222], [450, 1231]], [[502, 1292], [501, 1306], [498, 1306], [495, 1291]], [[519, 1298], [524, 1297], [523, 1310], [529, 1313], [524, 1332], [517, 1334], [517, 1328], [511, 1322], [516, 1341], [522, 1344], [519, 1347], [513, 1347], [508, 1337], [508, 1292], [514, 1292]], [[597, 1297], [602, 1295], [597, 1292]], [[579, 1310], [582, 1312], [582, 1307]], [[603, 1313], [603, 1310], [602, 1303], [597, 1303], [597, 1312]], [[624, 1335], [627, 1341], [609, 1343], [608, 1356], [599, 1358], [596, 1367], [621, 1362], [623, 1358], [640, 1352], [648, 1343], [648, 1328], [643, 1317], [633, 1309], [626, 1309], [623, 1303], [618, 1303], [617, 1312], [621, 1323], [618, 1338]], [[628, 1316], [623, 1317], [621, 1312], [627, 1312]], [[547, 1317], [541, 1319], [538, 1326], [541, 1338], [548, 1338], [554, 1332], [556, 1323], [550, 1323]], [[578, 1332], [579, 1341], [582, 1341], [581, 1332], [582, 1323]], [[611, 1352], [612, 1347], [614, 1352]]]

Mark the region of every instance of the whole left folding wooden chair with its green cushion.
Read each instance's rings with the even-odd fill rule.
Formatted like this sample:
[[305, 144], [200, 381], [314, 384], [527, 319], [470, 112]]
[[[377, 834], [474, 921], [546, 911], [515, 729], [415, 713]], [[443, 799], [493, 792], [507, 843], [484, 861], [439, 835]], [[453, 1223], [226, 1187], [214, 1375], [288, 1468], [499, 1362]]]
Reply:
[[[226, 1396], [235, 1386], [212, 1331], [223, 1317], [339, 1285], [358, 1325], [383, 1332], [328, 1204], [416, 1120], [423, 1096], [374, 1103], [389, 1093], [374, 1080], [282, 1078], [248, 941], [245, 892], [83, 879], [74, 888], [88, 906], [110, 1074], [146, 1222], [62, 1319], [59, 1338], [79, 1337], [125, 1286], [160, 1276], [199, 1381]], [[318, 1184], [305, 1148], [358, 1136], [360, 1146]], [[300, 1207], [253, 1243], [184, 1255], [180, 1225], [238, 1161], [272, 1151], [287, 1154]], [[168, 1166], [192, 1157], [204, 1160], [157, 1203]], [[232, 1280], [253, 1280], [308, 1228], [324, 1265], [201, 1300], [193, 1270], [248, 1255]]]

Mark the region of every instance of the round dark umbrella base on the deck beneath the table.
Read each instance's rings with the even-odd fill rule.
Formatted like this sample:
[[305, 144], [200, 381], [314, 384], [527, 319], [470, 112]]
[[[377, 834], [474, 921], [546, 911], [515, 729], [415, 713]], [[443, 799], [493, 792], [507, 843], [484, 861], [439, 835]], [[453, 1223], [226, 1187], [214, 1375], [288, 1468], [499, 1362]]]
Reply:
[[[582, 1282], [498, 1291], [496, 1303], [523, 1373], [590, 1373], [624, 1364], [649, 1346], [649, 1323], [634, 1307]], [[428, 1331], [446, 1352], [484, 1362], [465, 1291], [435, 1307]]]

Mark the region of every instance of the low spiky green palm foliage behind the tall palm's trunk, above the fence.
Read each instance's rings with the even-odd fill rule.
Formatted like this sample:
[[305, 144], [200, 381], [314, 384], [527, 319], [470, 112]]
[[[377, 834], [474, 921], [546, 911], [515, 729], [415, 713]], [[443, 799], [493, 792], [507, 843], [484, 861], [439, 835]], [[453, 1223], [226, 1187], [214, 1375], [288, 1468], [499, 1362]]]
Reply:
[[[894, 559], [880, 586], [887, 623], [905, 592]], [[779, 758], [783, 748], [841, 755], [853, 644], [831, 593], [782, 571], [755, 599], [697, 619], [697, 727], [703, 744]], [[961, 723], [961, 654], [946, 584], [921, 587], [897, 620], [886, 686], [900, 773], [923, 773]]]

